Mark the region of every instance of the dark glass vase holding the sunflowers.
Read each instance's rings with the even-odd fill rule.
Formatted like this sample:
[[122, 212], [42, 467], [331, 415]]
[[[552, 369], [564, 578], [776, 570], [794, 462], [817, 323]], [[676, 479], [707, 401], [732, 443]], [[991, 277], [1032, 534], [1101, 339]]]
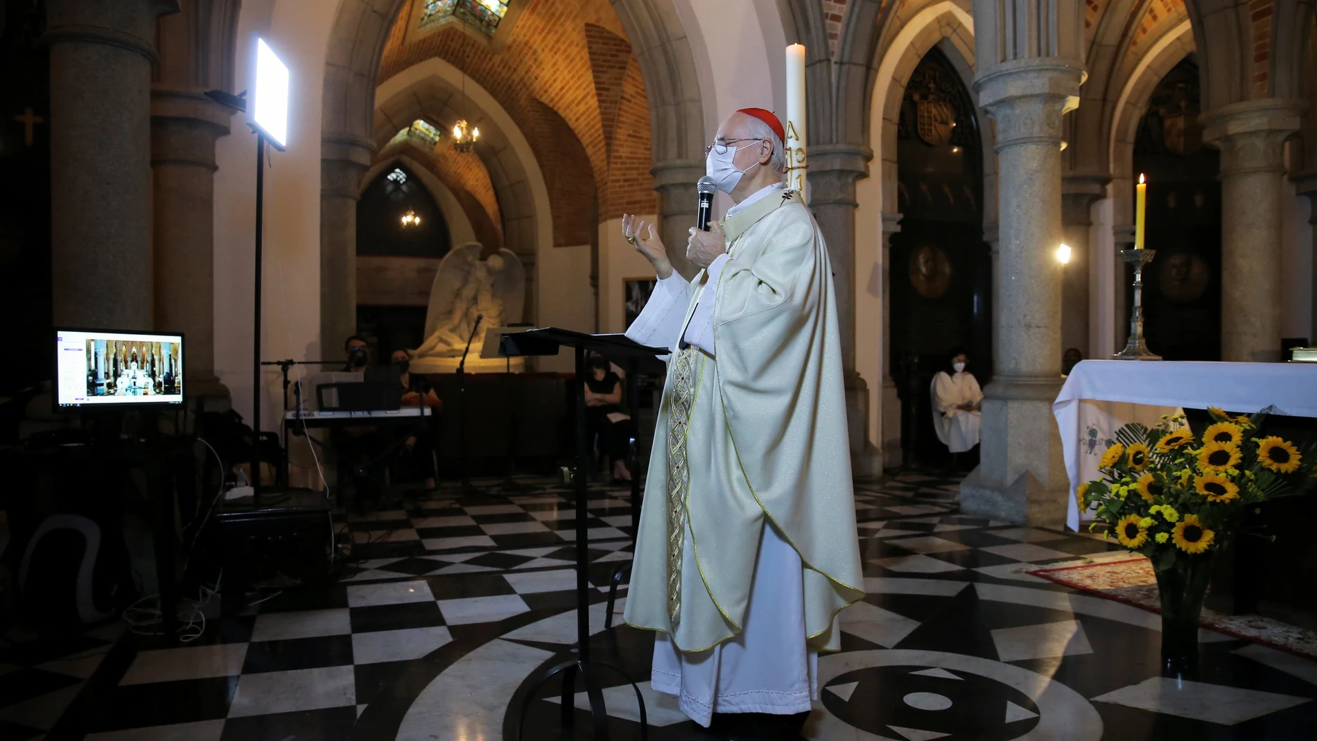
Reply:
[[1160, 554], [1152, 558], [1152, 571], [1162, 596], [1162, 673], [1166, 677], [1192, 674], [1198, 666], [1198, 617], [1212, 580], [1216, 550], [1189, 554], [1176, 550], [1167, 567]]

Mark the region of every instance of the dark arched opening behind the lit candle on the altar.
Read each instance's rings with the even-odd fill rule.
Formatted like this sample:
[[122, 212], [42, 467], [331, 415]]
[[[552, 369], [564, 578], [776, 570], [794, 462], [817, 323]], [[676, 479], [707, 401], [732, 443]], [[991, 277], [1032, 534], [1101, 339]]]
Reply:
[[1135, 178], [1148, 180], [1146, 245], [1156, 250], [1143, 274], [1143, 332], [1168, 361], [1221, 359], [1221, 153], [1202, 146], [1198, 112], [1191, 54], [1152, 89], [1134, 140]]

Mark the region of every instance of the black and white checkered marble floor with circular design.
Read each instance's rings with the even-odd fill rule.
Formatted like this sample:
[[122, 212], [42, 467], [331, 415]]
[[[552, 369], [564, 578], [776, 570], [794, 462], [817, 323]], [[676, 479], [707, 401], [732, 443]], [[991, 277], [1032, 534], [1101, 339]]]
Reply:
[[[532, 684], [576, 644], [574, 513], [560, 487], [527, 483], [524, 496], [437, 496], [350, 521], [341, 537], [360, 567], [340, 583], [279, 595], [182, 648], [115, 642], [113, 626], [0, 646], [0, 736], [512, 741]], [[856, 487], [869, 596], [842, 616], [843, 650], [819, 659], [807, 738], [1317, 737], [1317, 663], [1204, 632], [1196, 680], [1164, 679], [1158, 616], [1026, 574], [1119, 551], [957, 515], [956, 486]], [[591, 650], [648, 679], [652, 634], [602, 628], [608, 580], [631, 558], [627, 498], [589, 503]], [[612, 736], [639, 737], [631, 687], [608, 682]], [[651, 738], [707, 738], [641, 687]], [[556, 684], [529, 699], [527, 741], [560, 738], [558, 702]], [[583, 694], [576, 705], [589, 725]]]

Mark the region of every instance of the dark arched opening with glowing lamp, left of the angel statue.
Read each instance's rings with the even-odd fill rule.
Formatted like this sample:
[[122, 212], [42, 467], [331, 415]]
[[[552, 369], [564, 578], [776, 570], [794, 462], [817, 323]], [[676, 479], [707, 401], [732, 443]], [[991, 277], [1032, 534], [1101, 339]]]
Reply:
[[403, 163], [386, 167], [357, 201], [357, 328], [375, 358], [416, 347], [439, 262], [452, 249], [444, 212]]

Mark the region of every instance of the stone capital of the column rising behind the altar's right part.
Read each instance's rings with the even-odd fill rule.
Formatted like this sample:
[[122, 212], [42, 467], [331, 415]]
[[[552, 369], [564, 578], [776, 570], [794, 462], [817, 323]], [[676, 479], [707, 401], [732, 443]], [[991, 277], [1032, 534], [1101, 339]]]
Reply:
[[1213, 108], [1198, 117], [1202, 141], [1221, 150], [1221, 176], [1284, 172], [1285, 140], [1299, 130], [1306, 104], [1263, 99]]

